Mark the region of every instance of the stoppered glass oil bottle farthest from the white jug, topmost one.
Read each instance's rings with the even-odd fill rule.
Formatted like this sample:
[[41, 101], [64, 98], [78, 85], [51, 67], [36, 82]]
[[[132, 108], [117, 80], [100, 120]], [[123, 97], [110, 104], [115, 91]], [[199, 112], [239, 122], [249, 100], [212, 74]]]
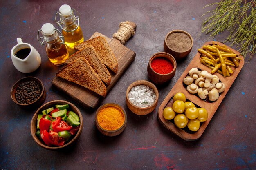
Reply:
[[[62, 29], [62, 34], [65, 38], [65, 44], [74, 49], [76, 44], [83, 42], [83, 32], [79, 26], [80, 14], [75, 10], [71, 9], [69, 5], [62, 5], [59, 9], [60, 11], [55, 15], [55, 22]], [[75, 16], [74, 11], [79, 15]], [[60, 17], [60, 20], [57, 21], [57, 17]]]

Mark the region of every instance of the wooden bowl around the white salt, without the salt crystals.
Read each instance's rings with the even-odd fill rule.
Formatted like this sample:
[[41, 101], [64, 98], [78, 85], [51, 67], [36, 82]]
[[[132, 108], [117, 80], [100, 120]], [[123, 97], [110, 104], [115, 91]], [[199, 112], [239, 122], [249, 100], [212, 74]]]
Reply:
[[[140, 107], [135, 106], [134, 104], [132, 104], [132, 102], [130, 102], [130, 100], [128, 98], [128, 94], [129, 94], [130, 90], [132, 89], [132, 87], [135, 87], [135, 86], [138, 86], [138, 85], [145, 85], [145, 86], [148, 86], [149, 88], [154, 90], [154, 93], [157, 96], [157, 98], [155, 99], [155, 102], [151, 106], [148, 106], [146, 108], [140, 108]], [[135, 113], [137, 115], [147, 115], [148, 113], [151, 113], [155, 109], [155, 107], [157, 106], [158, 97], [159, 97], [159, 93], [158, 93], [158, 90], [157, 90], [157, 88], [154, 84], [152, 84], [151, 82], [148, 82], [146, 80], [138, 80], [138, 81], [133, 82], [132, 84], [130, 84], [130, 86], [128, 86], [128, 88], [127, 88], [127, 91], [126, 91], [126, 105], [128, 106], [128, 108], [133, 113]]]

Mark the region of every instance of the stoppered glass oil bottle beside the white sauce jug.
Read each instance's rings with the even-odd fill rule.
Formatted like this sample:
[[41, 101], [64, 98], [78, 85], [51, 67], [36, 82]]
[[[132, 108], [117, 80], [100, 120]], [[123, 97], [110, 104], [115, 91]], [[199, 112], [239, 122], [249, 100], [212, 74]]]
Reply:
[[[43, 37], [39, 38], [39, 32], [41, 31]], [[63, 36], [59, 36], [61, 32], [55, 29], [50, 23], [43, 24], [42, 28], [38, 30], [37, 39], [40, 44], [45, 45], [45, 50], [50, 62], [54, 65], [62, 65], [69, 57], [67, 46], [64, 43]], [[62, 35], [62, 34], [61, 34]]]

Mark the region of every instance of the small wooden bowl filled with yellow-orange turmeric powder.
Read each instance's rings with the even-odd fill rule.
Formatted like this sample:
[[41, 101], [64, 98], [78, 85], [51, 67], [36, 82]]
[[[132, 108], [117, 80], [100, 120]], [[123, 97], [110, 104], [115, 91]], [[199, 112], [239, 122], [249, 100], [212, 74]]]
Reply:
[[103, 104], [96, 111], [95, 124], [103, 135], [119, 135], [126, 128], [126, 123], [126, 111], [118, 104]]

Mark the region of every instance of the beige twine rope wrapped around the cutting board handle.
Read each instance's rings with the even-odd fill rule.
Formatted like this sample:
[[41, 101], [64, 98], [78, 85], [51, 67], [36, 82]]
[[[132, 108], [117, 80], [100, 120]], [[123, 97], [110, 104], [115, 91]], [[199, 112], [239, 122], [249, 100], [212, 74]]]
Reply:
[[129, 21], [126, 21], [119, 24], [119, 29], [113, 34], [113, 38], [117, 38], [122, 44], [125, 44], [134, 34], [134, 29], [130, 26]]

